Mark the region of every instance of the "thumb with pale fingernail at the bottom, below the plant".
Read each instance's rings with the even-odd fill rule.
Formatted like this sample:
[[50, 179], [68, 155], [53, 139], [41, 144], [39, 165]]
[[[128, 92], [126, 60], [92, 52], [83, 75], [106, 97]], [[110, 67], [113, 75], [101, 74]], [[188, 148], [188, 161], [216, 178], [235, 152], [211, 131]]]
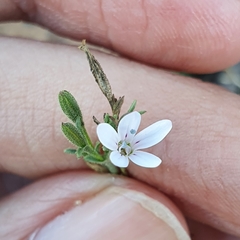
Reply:
[[53, 176], [0, 204], [0, 239], [185, 240], [190, 239], [186, 229], [181, 213], [165, 196], [111, 175]]

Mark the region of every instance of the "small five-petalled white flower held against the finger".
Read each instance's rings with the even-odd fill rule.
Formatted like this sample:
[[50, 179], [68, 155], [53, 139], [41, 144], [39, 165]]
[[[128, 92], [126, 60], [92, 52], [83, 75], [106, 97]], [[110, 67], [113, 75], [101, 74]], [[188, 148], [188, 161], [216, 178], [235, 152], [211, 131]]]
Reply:
[[162, 160], [147, 152], [139, 151], [151, 147], [160, 141], [172, 129], [170, 120], [158, 121], [136, 134], [141, 121], [141, 114], [132, 112], [124, 116], [118, 124], [118, 132], [108, 123], [97, 126], [97, 135], [100, 142], [111, 150], [110, 161], [118, 167], [125, 168], [129, 159], [135, 164], [154, 168]]

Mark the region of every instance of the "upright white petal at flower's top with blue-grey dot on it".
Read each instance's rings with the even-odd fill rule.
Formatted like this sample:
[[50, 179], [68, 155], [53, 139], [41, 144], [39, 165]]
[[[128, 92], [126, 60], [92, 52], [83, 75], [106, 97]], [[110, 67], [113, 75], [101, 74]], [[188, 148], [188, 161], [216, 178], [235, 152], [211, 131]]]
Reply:
[[124, 116], [118, 124], [118, 134], [121, 140], [131, 142], [135, 136], [141, 122], [141, 114], [139, 112], [131, 112]]

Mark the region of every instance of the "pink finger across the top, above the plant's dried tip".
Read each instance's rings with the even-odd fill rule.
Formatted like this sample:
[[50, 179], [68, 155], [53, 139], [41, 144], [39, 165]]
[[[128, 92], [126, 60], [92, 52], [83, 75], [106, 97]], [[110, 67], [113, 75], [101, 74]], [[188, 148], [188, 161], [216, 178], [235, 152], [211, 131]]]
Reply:
[[41, 24], [147, 64], [196, 73], [240, 60], [240, 2], [4, 1], [0, 20]]

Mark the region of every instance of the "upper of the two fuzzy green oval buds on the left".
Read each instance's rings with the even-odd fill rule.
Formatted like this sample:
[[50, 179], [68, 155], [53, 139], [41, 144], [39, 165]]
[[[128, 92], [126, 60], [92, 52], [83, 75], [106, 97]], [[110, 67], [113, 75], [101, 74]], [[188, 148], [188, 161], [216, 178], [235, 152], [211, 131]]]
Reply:
[[79, 117], [81, 120], [81, 124], [83, 124], [82, 112], [78, 106], [76, 99], [70, 92], [66, 90], [61, 91], [58, 95], [58, 100], [62, 111], [69, 119], [71, 119], [75, 123], [77, 118]]

